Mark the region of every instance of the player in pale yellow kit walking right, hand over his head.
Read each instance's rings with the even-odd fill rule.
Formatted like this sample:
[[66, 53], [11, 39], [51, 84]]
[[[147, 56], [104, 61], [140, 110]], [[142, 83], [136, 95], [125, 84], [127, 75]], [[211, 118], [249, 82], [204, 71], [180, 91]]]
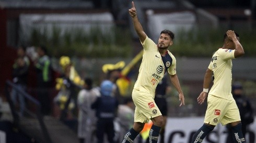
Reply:
[[234, 142], [245, 142], [242, 135], [239, 110], [231, 94], [232, 61], [241, 57], [245, 52], [239, 42], [239, 35], [228, 30], [224, 35], [224, 45], [212, 57], [212, 61], [204, 76], [203, 92], [197, 98], [201, 105], [208, 93], [208, 88], [213, 76], [213, 86], [207, 98], [207, 110], [203, 126], [194, 134], [191, 142], [202, 142], [204, 137], [211, 132], [220, 122], [229, 124]]

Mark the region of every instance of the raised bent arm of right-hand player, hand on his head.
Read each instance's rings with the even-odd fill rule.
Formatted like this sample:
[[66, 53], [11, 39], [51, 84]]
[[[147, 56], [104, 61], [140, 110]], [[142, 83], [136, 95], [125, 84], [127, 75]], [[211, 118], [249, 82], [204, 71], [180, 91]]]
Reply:
[[227, 36], [228, 36], [229, 40], [233, 41], [235, 44], [235, 58], [238, 58], [238, 57], [241, 57], [242, 55], [244, 55], [245, 51], [243, 51], [243, 47], [240, 44], [239, 40], [237, 39], [235, 32], [232, 30], [228, 30]]

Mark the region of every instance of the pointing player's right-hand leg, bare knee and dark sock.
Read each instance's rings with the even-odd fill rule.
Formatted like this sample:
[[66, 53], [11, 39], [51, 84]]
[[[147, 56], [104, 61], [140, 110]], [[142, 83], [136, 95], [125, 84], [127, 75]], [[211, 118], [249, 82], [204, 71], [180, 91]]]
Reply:
[[162, 115], [159, 115], [152, 118], [151, 120], [153, 122], [153, 125], [149, 131], [149, 142], [157, 143], [160, 129], [164, 124], [164, 118], [162, 118]]

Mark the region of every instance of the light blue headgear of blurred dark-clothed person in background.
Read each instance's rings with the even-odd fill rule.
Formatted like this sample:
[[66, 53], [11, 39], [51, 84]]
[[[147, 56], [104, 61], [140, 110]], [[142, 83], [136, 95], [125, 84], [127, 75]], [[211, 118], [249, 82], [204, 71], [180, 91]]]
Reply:
[[114, 84], [111, 81], [103, 81], [100, 85], [100, 93], [102, 96], [111, 96], [114, 91]]

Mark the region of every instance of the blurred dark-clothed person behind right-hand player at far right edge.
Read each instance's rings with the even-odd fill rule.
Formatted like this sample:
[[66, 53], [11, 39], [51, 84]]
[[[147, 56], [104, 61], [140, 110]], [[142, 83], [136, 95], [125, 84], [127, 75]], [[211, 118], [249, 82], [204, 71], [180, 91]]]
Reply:
[[[251, 106], [251, 103], [249, 99], [243, 95], [243, 87], [241, 83], [235, 83], [232, 85], [232, 95], [234, 99], [236, 100], [237, 107], [240, 112], [241, 117], [241, 123], [242, 123], [242, 134], [244, 137], [246, 137], [246, 134], [249, 131], [249, 124], [253, 123], [254, 116], [253, 116], [253, 109]], [[226, 143], [233, 142], [232, 136], [231, 136], [231, 129], [230, 126], [227, 125], [228, 128], [228, 137]], [[254, 139], [249, 139], [249, 142], [254, 142]]]

